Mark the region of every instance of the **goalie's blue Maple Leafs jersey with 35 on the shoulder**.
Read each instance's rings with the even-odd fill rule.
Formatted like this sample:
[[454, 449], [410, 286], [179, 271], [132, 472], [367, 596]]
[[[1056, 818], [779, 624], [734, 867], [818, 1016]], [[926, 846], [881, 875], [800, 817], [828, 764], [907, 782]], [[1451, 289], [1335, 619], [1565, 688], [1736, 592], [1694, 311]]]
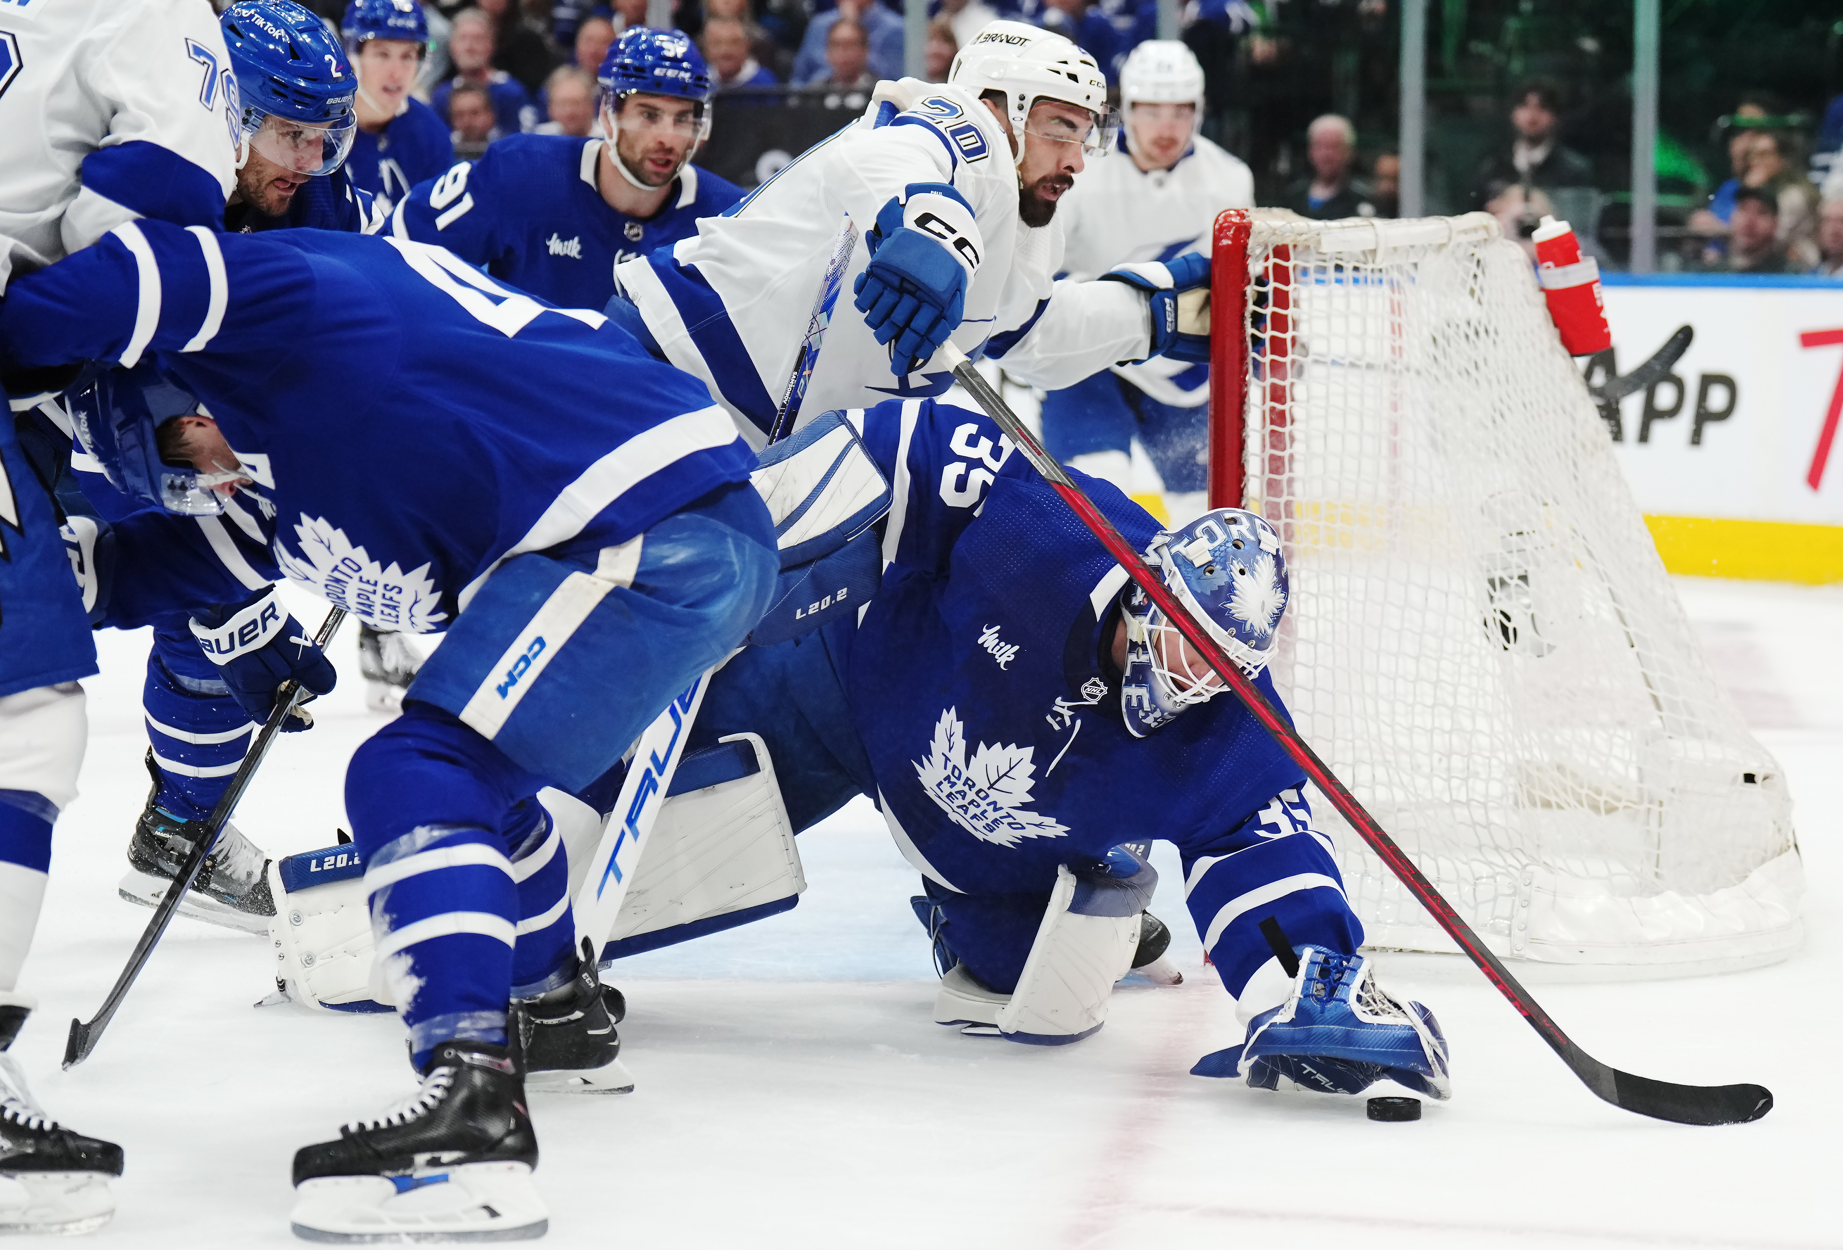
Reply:
[[[864, 413], [864, 444], [898, 492], [888, 564], [863, 623], [826, 642], [877, 802], [925, 876], [1039, 892], [1056, 865], [1124, 841], [1220, 855], [1303, 782], [1231, 695], [1150, 737], [1126, 732], [1104, 656], [1126, 572], [984, 413], [885, 404]], [[1082, 487], [1133, 546], [1157, 533], [1115, 487]]]

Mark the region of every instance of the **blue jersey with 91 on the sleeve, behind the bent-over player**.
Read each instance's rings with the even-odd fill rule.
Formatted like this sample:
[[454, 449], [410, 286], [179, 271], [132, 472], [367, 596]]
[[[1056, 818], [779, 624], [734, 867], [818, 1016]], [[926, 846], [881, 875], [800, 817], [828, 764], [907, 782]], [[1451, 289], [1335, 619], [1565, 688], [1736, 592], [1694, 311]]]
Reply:
[[595, 188], [605, 140], [568, 135], [501, 138], [472, 164], [417, 186], [398, 205], [396, 238], [448, 251], [566, 308], [606, 308], [614, 267], [697, 234], [743, 197], [715, 173], [686, 166], [678, 194], [647, 219], [608, 206]]

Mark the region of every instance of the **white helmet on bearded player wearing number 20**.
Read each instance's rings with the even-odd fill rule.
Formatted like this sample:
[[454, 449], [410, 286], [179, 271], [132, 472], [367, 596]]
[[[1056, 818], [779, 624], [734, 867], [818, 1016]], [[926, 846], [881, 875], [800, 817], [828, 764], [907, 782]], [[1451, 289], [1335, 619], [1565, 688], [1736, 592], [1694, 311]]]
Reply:
[[[1108, 107], [1108, 77], [1095, 57], [1069, 39], [1027, 22], [990, 22], [960, 48], [947, 70], [947, 81], [975, 96], [995, 90], [1004, 96], [1012, 133], [1023, 135], [1030, 105], [1060, 100], [1095, 114], [1095, 129], [1082, 144], [1084, 155], [1100, 155], [1113, 146], [1119, 118]], [[1023, 140], [1017, 160], [1023, 160]]]

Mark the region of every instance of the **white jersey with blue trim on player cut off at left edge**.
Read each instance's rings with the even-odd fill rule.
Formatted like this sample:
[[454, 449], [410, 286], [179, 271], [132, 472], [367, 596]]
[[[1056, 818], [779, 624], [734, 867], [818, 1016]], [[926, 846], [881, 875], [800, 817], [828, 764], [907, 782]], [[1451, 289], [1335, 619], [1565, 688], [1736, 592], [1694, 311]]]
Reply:
[[216, 227], [238, 111], [203, 0], [0, 0], [0, 291], [133, 218]]

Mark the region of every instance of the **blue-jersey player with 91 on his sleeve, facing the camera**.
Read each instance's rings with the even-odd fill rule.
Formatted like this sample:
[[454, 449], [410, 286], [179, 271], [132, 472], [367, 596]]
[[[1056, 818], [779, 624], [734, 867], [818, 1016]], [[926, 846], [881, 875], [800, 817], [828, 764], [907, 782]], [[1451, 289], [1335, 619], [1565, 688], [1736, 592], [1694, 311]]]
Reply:
[[610, 140], [501, 138], [472, 164], [415, 188], [398, 238], [440, 243], [547, 301], [606, 306], [614, 267], [697, 234], [743, 197], [691, 164], [710, 133], [710, 72], [682, 31], [628, 28], [601, 63]]

